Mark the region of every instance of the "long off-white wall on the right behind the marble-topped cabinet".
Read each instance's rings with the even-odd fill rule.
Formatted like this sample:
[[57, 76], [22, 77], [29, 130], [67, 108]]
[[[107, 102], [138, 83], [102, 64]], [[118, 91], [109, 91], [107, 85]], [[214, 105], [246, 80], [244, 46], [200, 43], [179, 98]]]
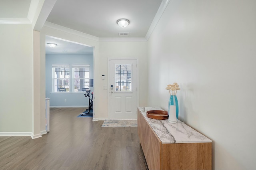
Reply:
[[213, 141], [213, 169], [255, 169], [256, 1], [170, 1], [148, 40], [149, 106], [167, 110], [177, 82], [179, 119]]

